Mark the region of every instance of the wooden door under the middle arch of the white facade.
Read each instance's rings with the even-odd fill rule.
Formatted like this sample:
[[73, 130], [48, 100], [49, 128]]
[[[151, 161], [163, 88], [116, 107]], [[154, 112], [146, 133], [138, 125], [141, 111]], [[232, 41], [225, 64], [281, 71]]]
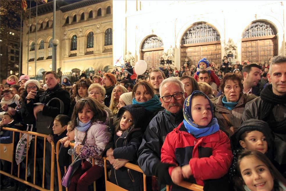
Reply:
[[191, 47], [181, 47], [181, 65], [184, 64], [185, 58], [188, 58], [190, 63], [197, 65], [199, 60], [207, 58], [210, 62], [221, 64], [221, 45], [199, 45]]

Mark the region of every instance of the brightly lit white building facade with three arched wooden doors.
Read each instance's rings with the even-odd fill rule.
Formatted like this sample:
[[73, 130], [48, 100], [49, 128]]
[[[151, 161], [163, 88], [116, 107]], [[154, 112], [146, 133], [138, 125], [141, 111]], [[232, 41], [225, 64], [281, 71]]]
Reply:
[[230, 51], [233, 63], [285, 55], [283, 1], [116, 0], [113, 6], [120, 7], [113, 10], [114, 63], [127, 52], [148, 67], [159, 66], [161, 57], [179, 67], [185, 58], [220, 64]]

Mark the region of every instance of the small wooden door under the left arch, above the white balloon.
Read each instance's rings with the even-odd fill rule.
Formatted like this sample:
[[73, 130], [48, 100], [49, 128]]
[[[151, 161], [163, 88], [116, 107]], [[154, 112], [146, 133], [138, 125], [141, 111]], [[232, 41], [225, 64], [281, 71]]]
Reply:
[[146, 61], [147, 67], [155, 67], [158, 68], [160, 65], [160, 59], [163, 54], [163, 50], [156, 50], [156, 51], [148, 51], [148, 52], [143, 52], [141, 53], [141, 59]]

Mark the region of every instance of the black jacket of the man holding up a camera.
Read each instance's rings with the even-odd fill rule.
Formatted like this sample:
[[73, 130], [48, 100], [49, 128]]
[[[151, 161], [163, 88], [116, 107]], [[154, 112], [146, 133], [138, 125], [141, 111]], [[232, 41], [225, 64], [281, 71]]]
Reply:
[[[30, 114], [33, 114], [33, 108], [35, 107], [34, 103], [44, 103], [47, 104], [52, 98], [59, 98], [64, 103], [64, 115], [67, 115], [69, 112], [71, 98], [67, 91], [62, 89], [59, 84], [57, 84], [53, 89], [47, 89], [42, 95], [36, 96], [35, 99], [32, 99], [28, 104], [25, 101], [26, 107]], [[60, 105], [56, 102], [55, 104], [51, 103], [49, 106], [45, 105], [42, 111], [43, 115], [56, 117], [60, 114]]]

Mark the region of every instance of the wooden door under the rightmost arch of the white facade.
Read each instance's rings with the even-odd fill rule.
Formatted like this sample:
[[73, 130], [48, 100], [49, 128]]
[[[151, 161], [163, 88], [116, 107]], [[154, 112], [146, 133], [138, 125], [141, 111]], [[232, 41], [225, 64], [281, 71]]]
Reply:
[[241, 60], [264, 64], [273, 56], [277, 56], [277, 38], [250, 40], [242, 42]]

